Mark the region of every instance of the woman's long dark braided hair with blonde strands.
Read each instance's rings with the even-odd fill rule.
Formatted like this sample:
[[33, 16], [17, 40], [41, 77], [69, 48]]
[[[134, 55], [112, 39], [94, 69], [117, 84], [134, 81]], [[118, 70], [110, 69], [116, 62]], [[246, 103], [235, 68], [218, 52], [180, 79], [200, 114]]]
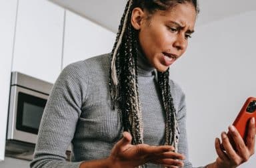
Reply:
[[[119, 108], [123, 129], [131, 133], [134, 145], [143, 143], [143, 122], [137, 81], [139, 40], [138, 31], [130, 22], [131, 14], [135, 7], [141, 7], [153, 14], [157, 10], [165, 11], [179, 3], [192, 3], [195, 11], [199, 13], [196, 0], [129, 0], [121, 18], [111, 52], [109, 90], [113, 108]], [[173, 145], [177, 150], [179, 130], [169, 86], [169, 68], [165, 72], [157, 72], [157, 82], [166, 116], [165, 145]]]

